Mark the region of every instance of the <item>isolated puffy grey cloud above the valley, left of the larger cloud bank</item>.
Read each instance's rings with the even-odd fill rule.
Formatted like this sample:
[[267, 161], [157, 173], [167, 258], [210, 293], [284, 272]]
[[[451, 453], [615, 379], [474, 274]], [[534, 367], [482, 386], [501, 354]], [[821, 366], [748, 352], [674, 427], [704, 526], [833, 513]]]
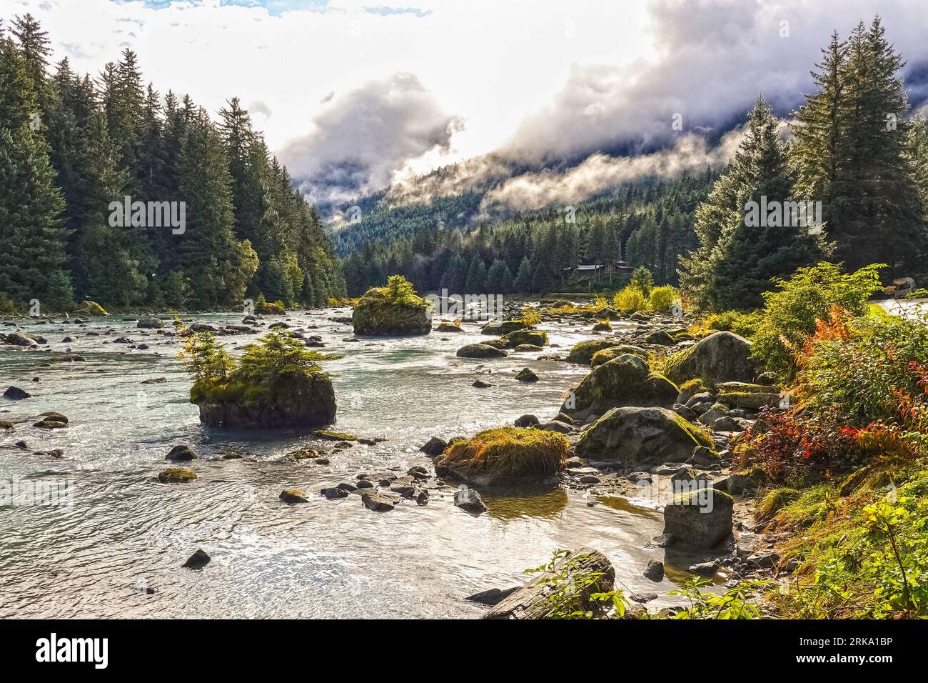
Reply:
[[410, 160], [447, 151], [462, 127], [416, 76], [395, 73], [332, 99], [279, 156], [304, 194], [329, 204], [380, 190]]

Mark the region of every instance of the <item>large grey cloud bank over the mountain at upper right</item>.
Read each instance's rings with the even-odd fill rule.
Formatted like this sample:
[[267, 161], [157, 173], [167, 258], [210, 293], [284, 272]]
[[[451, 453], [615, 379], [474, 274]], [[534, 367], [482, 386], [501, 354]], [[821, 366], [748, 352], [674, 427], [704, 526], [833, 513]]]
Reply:
[[561, 91], [527, 115], [500, 152], [551, 163], [653, 151], [677, 137], [675, 117], [684, 131], [718, 135], [758, 94], [786, 115], [813, 89], [809, 70], [831, 32], [846, 36], [877, 11], [909, 59], [916, 104], [928, 96], [928, 13], [920, 0], [655, 0], [649, 9], [654, 58], [626, 67], [574, 64]]

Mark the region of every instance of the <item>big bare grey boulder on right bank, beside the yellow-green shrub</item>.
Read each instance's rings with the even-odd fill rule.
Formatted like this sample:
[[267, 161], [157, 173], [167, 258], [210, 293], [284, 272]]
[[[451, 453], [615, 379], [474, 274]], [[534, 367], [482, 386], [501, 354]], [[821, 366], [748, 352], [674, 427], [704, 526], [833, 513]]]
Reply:
[[710, 382], [750, 382], [755, 370], [751, 342], [733, 332], [709, 335], [664, 363], [664, 374], [677, 384], [697, 377]]

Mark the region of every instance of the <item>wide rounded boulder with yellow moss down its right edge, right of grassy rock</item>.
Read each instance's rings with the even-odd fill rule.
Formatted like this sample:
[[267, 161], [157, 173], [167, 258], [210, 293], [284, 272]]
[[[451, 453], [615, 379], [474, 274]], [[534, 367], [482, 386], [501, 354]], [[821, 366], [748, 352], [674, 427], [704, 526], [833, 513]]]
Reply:
[[708, 433], [666, 408], [613, 408], [580, 437], [576, 454], [630, 465], [682, 463], [697, 446], [714, 449]]

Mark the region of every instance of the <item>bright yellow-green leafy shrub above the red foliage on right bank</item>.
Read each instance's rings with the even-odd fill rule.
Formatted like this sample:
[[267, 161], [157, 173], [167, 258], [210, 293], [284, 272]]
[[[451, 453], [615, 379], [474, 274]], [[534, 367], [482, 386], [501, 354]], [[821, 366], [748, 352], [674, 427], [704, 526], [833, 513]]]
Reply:
[[796, 270], [788, 280], [775, 281], [778, 291], [763, 294], [754, 358], [767, 370], [792, 379], [818, 322], [829, 319], [832, 307], [839, 306], [855, 316], [866, 314], [867, 300], [882, 290], [882, 268], [882, 264], [874, 264], [842, 274], [838, 266], [822, 262]]

